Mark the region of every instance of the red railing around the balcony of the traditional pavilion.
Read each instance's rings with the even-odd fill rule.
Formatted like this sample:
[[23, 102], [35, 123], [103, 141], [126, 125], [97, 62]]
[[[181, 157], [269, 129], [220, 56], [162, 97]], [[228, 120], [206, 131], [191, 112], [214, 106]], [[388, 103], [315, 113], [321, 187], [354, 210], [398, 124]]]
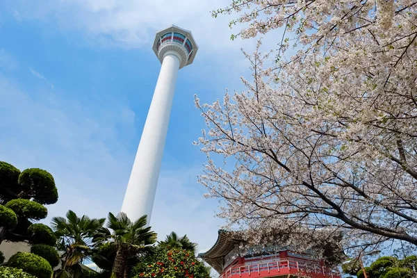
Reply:
[[341, 278], [341, 273], [338, 270], [325, 268], [313, 261], [300, 261], [291, 258], [272, 262], [259, 261], [251, 265], [232, 265], [224, 270], [221, 278], [247, 277], [252, 276], [251, 274], [267, 275], [270, 272], [299, 274], [304, 277]]

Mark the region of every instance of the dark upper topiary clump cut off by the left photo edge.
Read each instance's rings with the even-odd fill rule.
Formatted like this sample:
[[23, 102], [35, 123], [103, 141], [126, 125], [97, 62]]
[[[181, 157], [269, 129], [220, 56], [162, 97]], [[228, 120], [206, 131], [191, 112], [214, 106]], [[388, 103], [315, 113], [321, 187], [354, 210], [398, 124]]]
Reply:
[[0, 204], [6, 204], [12, 197], [10, 196], [10, 190], [19, 191], [19, 179], [20, 171], [15, 166], [0, 161]]

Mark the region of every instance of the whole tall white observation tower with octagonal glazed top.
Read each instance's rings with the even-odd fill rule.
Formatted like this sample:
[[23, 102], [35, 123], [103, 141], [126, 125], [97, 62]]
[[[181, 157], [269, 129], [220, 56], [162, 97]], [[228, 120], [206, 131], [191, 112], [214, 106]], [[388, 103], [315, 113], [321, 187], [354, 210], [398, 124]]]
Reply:
[[122, 204], [122, 212], [132, 221], [147, 215], [147, 225], [154, 206], [178, 70], [193, 63], [198, 47], [190, 31], [172, 25], [156, 33], [152, 49], [161, 61], [161, 71]]

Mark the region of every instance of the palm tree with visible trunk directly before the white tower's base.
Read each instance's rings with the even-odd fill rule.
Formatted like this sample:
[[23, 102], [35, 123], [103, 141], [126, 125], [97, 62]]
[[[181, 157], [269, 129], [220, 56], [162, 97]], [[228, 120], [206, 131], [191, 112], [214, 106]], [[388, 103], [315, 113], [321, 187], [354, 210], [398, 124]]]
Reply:
[[146, 227], [146, 219], [147, 216], [143, 215], [131, 222], [126, 213], [119, 213], [117, 216], [108, 213], [107, 228], [102, 228], [95, 237], [97, 245], [115, 245], [116, 256], [112, 270], [115, 277], [129, 277], [130, 259], [149, 251], [150, 245], [156, 243], [156, 233], [151, 231], [151, 227]]

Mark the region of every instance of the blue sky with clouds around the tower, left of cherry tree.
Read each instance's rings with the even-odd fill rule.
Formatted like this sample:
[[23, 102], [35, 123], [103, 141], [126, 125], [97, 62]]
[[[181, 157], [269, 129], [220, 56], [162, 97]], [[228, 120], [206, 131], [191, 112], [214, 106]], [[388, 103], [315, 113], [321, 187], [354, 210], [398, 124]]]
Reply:
[[176, 24], [199, 53], [179, 72], [151, 224], [160, 238], [188, 234], [199, 251], [215, 243], [222, 220], [196, 181], [205, 156], [192, 142], [204, 122], [193, 95], [214, 101], [241, 88], [239, 49], [255, 44], [229, 40], [231, 17], [211, 18], [227, 2], [0, 2], [0, 160], [54, 175], [60, 199], [47, 221], [120, 210], [161, 66], [154, 34]]

